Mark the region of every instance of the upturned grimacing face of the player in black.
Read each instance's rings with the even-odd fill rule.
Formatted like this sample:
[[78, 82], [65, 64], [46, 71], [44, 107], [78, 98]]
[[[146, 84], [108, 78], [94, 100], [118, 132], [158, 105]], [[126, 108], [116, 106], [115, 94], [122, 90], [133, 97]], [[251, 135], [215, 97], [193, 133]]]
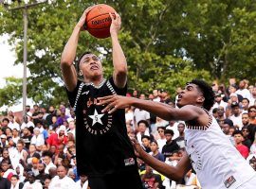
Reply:
[[102, 75], [101, 60], [94, 54], [86, 54], [80, 61], [80, 70], [85, 77], [97, 77]]

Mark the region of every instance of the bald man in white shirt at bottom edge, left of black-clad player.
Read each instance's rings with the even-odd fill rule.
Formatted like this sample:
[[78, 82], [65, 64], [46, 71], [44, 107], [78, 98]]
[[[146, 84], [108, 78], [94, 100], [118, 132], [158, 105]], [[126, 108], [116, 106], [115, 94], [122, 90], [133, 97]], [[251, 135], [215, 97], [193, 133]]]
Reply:
[[49, 189], [62, 188], [71, 189], [76, 188], [76, 183], [71, 178], [67, 177], [67, 171], [63, 165], [57, 168], [57, 177], [54, 177], [49, 184]]

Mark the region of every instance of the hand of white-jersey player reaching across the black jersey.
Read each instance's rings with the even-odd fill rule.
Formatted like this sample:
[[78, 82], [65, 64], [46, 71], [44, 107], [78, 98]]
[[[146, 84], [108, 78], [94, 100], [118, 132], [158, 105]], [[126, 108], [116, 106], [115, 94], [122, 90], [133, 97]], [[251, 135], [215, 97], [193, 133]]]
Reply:
[[130, 106], [129, 98], [117, 94], [99, 97], [98, 100], [100, 100], [98, 105], [106, 105], [106, 107], [101, 112], [112, 113], [118, 109], [125, 109]]

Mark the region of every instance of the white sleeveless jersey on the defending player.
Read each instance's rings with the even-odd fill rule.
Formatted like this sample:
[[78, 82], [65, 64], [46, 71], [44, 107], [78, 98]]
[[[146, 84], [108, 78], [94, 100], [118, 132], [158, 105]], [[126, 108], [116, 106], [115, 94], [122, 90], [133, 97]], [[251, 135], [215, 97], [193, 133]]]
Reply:
[[185, 145], [202, 188], [234, 189], [256, 177], [211, 115], [208, 126], [187, 126]]

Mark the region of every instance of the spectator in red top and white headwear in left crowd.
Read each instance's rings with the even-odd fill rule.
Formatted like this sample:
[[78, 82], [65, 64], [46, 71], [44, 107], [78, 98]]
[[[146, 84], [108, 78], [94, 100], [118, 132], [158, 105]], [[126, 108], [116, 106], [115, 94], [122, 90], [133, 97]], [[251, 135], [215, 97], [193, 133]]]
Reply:
[[68, 138], [66, 136], [66, 129], [64, 126], [61, 126], [59, 129], [57, 129], [56, 133], [52, 133], [48, 140], [47, 140], [47, 148], [49, 149], [50, 146], [60, 146], [61, 144], [66, 145]]

